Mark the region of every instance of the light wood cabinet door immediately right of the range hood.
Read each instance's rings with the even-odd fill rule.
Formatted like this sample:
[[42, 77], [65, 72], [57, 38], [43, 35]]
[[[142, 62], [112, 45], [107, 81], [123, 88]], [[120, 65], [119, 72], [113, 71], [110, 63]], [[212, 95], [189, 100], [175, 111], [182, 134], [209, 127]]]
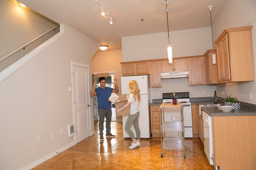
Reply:
[[188, 58], [189, 85], [203, 84], [203, 72], [201, 57]]

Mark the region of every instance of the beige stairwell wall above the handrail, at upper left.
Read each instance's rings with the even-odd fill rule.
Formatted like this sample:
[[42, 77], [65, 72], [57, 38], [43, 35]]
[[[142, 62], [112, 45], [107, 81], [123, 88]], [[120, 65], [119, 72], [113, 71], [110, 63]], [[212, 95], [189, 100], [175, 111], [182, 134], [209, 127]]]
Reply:
[[57, 23], [28, 7], [20, 7], [17, 1], [0, 1], [0, 58], [27, 44]]

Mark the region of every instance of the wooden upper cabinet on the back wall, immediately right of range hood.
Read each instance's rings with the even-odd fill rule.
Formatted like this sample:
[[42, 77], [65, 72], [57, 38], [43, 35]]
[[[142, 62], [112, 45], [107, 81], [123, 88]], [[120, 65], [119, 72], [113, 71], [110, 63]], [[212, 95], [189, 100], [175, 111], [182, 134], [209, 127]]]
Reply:
[[188, 58], [189, 85], [205, 84], [205, 59], [203, 56]]

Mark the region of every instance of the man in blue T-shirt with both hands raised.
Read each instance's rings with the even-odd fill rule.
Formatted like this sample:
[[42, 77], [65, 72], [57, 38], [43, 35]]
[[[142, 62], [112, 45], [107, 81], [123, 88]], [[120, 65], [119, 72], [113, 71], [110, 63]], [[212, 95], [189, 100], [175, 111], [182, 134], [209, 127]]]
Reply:
[[111, 134], [111, 101], [108, 98], [111, 96], [112, 92], [118, 92], [117, 79], [114, 79], [115, 89], [106, 87], [106, 79], [104, 77], [99, 79], [100, 87], [96, 88], [96, 80], [94, 81], [90, 96], [93, 97], [97, 95], [98, 101], [98, 113], [99, 113], [99, 131], [100, 131], [100, 140], [104, 140], [103, 138], [103, 130], [104, 130], [104, 120], [106, 117], [106, 137], [115, 138], [116, 136]]

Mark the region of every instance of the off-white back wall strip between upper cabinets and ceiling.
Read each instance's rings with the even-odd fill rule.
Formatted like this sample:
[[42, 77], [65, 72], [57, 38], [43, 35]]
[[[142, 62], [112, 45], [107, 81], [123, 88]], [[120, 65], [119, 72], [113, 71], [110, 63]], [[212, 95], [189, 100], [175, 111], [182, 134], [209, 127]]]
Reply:
[[[212, 48], [211, 27], [170, 32], [173, 57], [203, 55]], [[123, 62], [167, 58], [167, 32], [122, 37]]]

